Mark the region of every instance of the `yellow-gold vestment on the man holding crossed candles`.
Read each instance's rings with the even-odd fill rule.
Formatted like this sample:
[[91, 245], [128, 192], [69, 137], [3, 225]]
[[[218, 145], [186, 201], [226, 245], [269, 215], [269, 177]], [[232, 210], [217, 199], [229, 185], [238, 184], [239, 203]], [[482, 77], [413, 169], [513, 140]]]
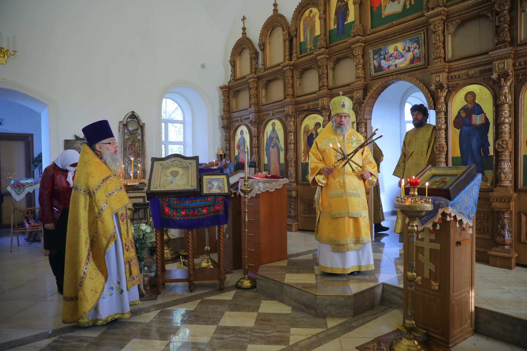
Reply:
[[[315, 176], [322, 173], [325, 166], [331, 166], [336, 161], [337, 143], [346, 153], [352, 152], [364, 142], [362, 135], [353, 128], [344, 137], [337, 135], [333, 125], [328, 125], [318, 135], [309, 152], [309, 182], [312, 187], [318, 186]], [[368, 147], [359, 151], [353, 160], [369, 171], [377, 183], [377, 165]], [[357, 168], [353, 164], [354, 168]], [[317, 223], [315, 226], [316, 240], [321, 244], [331, 244], [333, 252], [361, 250], [364, 243], [371, 243], [368, 217], [368, 204], [364, 189], [365, 180], [359, 173], [353, 173], [346, 165], [341, 171], [327, 177], [327, 185], [318, 186], [315, 195]], [[354, 270], [373, 269], [362, 267]], [[344, 273], [344, 272], [333, 272]], [[349, 272], [347, 272], [349, 273]]]

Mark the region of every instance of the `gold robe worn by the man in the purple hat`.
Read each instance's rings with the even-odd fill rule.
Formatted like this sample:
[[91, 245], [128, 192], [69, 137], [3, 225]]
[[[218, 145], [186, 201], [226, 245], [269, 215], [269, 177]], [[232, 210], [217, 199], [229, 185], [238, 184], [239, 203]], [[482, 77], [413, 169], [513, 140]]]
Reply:
[[[64, 269], [62, 322], [81, 326], [104, 324], [129, 317], [130, 312], [90, 320], [89, 314], [103, 295], [108, 280], [105, 254], [114, 242], [122, 243], [126, 282], [123, 289], [141, 282], [130, 214], [133, 207], [119, 177], [87, 146], [81, 157], [70, 202]], [[118, 218], [120, 240], [116, 240]], [[102, 297], [104, 298], [104, 297]], [[139, 304], [139, 300], [130, 305]]]

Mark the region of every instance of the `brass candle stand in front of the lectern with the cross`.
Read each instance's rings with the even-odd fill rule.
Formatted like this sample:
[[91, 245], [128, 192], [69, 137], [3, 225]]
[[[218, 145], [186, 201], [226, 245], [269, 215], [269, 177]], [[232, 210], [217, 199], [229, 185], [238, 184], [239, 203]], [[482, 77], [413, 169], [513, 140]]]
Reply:
[[[416, 184], [418, 186], [418, 183]], [[417, 278], [415, 274], [415, 239], [417, 237], [417, 219], [425, 215], [427, 211], [434, 208], [432, 198], [419, 197], [417, 195], [417, 186], [410, 187], [410, 196], [397, 196], [395, 208], [401, 210], [401, 213], [408, 217], [408, 270], [406, 272], [406, 290], [407, 296], [406, 317], [403, 326], [403, 334], [389, 345], [390, 351], [422, 351], [428, 350], [425, 342], [426, 332], [419, 329], [414, 321], [414, 287]]]

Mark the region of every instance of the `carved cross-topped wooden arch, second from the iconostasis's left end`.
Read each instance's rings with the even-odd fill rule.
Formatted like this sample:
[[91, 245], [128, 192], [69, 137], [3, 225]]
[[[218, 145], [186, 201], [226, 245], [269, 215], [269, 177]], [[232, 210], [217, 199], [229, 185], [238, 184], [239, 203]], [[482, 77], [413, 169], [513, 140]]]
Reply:
[[262, 53], [260, 68], [262, 72], [269, 67], [266, 54], [268, 49], [266, 45], [267, 38], [271, 34], [272, 29], [277, 26], [280, 26], [280, 28], [282, 28], [282, 44], [284, 45], [284, 57], [282, 58], [282, 62], [291, 61], [291, 52], [289, 45], [289, 41], [291, 40], [291, 34], [289, 33], [289, 23], [287, 21], [286, 16], [282, 15], [281, 13], [278, 13], [278, 4], [276, 3], [276, 1], [272, 4], [272, 6], [274, 7], [272, 9], [272, 15], [266, 19], [260, 31], [260, 38], [258, 39], [258, 47], [260, 48], [260, 51]]

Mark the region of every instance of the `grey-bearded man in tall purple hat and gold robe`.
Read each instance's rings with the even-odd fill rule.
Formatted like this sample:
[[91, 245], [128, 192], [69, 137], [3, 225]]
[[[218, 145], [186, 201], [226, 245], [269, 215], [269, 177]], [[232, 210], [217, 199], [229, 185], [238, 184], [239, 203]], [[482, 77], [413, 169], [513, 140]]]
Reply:
[[66, 237], [62, 321], [81, 326], [131, 316], [139, 304], [139, 265], [120, 182], [117, 142], [108, 121], [82, 129]]

